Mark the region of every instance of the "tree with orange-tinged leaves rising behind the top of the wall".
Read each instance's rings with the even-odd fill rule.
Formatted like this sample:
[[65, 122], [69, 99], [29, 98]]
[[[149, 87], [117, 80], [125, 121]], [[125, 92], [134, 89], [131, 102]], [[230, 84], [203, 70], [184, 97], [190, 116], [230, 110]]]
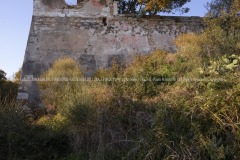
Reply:
[[189, 8], [182, 8], [191, 0], [119, 0], [119, 12], [121, 14], [149, 14], [156, 15], [159, 12], [187, 13]]

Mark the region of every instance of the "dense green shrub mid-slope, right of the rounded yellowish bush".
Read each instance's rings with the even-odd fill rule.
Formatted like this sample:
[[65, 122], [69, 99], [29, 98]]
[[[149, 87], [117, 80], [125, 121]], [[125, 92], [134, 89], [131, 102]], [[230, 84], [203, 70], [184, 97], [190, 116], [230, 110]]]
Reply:
[[96, 77], [108, 78], [107, 84], [117, 98], [142, 99], [159, 94], [162, 85], [173, 84], [178, 74], [178, 63], [180, 58], [177, 55], [155, 51], [136, 55], [126, 68], [113, 63], [110, 69], [98, 71]]

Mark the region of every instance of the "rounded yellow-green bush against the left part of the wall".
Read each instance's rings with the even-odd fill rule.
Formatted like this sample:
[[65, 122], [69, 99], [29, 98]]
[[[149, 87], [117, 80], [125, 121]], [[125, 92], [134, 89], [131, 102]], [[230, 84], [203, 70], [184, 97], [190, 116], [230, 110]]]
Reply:
[[46, 79], [39, 83], [42, 90], [42, 101], [48, 109], [55, 110], [62, 115], [67, 111], [67, 106], [74, 105], [80, 94], [82, 72], [78, 64], [71, 58], [63, 58], [54, 62], [52, 68], [42, 74]]

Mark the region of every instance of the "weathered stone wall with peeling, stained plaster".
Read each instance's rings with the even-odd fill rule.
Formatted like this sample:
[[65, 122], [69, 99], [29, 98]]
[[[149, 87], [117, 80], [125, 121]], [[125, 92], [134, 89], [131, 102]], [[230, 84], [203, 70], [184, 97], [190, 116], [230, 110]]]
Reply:
[[[199, 17], [113, 16], [113, 8], [106, 0], [83, 1], [75, 8], [64, 0], [35, 0], [22, 76], [38, 77], [64, 56], [73, 57], [91, 76], [109, 67], [113, 57], [125, 63], [134, 53], [175, 51], [176, 36], [203, 30]], [[20, 99], [38, 99], [36, 82], [22, 82], [20, 90]]]

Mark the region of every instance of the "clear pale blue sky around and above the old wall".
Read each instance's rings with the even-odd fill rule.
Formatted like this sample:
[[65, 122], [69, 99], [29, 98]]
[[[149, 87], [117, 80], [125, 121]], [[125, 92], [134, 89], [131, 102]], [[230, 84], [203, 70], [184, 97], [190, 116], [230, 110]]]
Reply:
[[[74, 4], [76, 0], [66, 0]], [[191, 0], [190, 12], [182, 16], [204, 16], [210, 0]], [[33, 0], [0, 2], [0, 69], [10, 78], [21, 68], [32, 19]], [[178, 14], [175, 14], [178, 15]]]

